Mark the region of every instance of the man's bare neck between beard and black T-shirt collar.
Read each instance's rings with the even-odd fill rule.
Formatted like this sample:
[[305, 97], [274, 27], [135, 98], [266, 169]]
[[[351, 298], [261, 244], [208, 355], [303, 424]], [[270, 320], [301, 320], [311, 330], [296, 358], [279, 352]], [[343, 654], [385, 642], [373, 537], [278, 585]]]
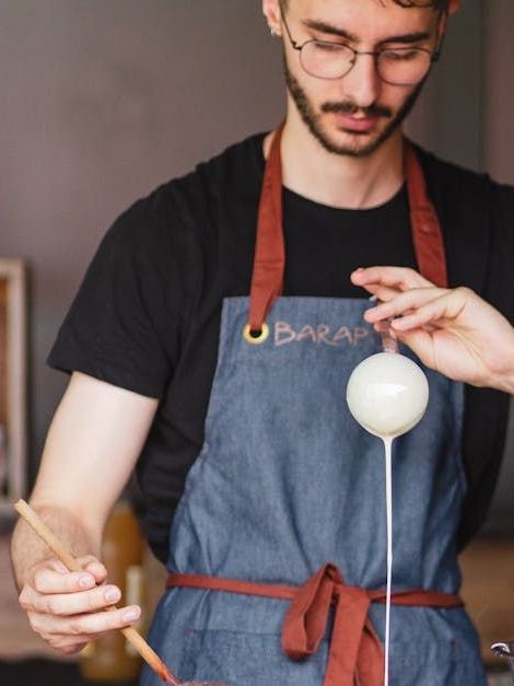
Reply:
[[[269, 143], [265, 143], [265, 153]], [[282, 183], [331, 207], [383, 205], [404, 183], [401, 132], [395, 132], [373, 154], [357, 159], [326, 151], [300, 117], [290, 114], [282, 136]]]

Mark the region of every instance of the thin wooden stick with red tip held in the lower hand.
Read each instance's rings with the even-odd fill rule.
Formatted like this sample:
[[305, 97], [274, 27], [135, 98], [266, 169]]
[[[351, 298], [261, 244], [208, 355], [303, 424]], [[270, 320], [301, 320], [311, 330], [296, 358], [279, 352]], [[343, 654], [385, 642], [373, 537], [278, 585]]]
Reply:
[[[51, 533], [48, 526], [43, 522], [43, 520], [34, 512], [31, 505], [24, 500], [19, 500], [14, 503], [14, 509], [20, 513], [20, 515], [32, 526], [32, 528], [40, 536], [40, 538], [46, 543], [46, 545], [50, 548], [50, 550], [60, 559], [60, 561], [66, 565], [66, 567], [70, 571], [84, 571], [79, 562], [74, 559], [72, 555], [65, 548], [65, 546], [60, 543], [60, 540]], [[105, 607], [105, 612], [114, 612], [116, 609], [115, 606]], [[161, 658], [156, 654], [156, 652], [150, 648], [147, 641], [143, 639], [141, 633], [137, 631], [133, 627], [125, 627], [120, 629], [121, 633], [125, 636], [127, 641], [131, 643], [136, 650], [139, 652], [141, 658], [148, 662], [148, 664], [154, 670], [154, 672], [161, 677], [161, 679], [167, 684], [172, 684], [172, 686], [179, 685], [180, 682], [170, 672]]]

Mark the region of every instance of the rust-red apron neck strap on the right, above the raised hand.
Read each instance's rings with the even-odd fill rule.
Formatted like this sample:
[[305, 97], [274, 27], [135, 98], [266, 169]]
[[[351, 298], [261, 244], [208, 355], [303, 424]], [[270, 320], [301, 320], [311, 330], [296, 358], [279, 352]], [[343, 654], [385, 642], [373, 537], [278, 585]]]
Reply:
[[435, 208], [427, 195], [420, 161], [407, 139], [404, 155], [412, 241], [419, 270], [435, 286], [447, 288], [446, 255], [441, 224]]

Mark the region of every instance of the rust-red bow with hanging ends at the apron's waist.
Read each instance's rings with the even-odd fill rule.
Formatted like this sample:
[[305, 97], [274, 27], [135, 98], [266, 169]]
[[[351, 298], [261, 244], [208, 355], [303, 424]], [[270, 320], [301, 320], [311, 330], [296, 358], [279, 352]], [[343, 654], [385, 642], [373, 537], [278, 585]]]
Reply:
[[376, 591], [346, 585], [338, 568], [325, 565], [299, 589], [288, 609], [282, 627], [285, 654], [292, 660], [304, 660], [317, 652], [332, 607], [325, 686], [352, 686], [357, 673], [360, 684], [378, 686], [384, 651], [367, 617], [376, 595]]

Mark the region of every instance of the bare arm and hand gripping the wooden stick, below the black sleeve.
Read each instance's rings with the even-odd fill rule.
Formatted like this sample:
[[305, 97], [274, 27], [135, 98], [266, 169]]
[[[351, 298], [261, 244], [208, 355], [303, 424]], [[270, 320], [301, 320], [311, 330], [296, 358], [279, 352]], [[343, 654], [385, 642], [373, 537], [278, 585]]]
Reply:
[[[105, 523], [141, 453], [157, 398], [74, 372], [48, 432], [30, 504], [84, 571], [48, 559], [48, 548], [23, 520], [12, 539], [20, 604], [34, 630], [71, 654], [110, 629], [135, 624], [137, 606], [103, 612], [119, 601], [98, 559]], [[81, 586], [81, 579], [89, 585]], [[105, 594], [117, 591], [114, 600]], [[133, 611], [133, 616], [127, 616]]]

